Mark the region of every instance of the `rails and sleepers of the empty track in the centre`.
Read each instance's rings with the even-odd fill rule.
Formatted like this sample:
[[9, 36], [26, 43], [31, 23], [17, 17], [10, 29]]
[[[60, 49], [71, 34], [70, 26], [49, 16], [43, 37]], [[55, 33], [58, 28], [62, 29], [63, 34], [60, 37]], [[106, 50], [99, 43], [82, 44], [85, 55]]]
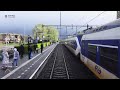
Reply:
[[[61, 50], [62, 53], [59, 51]], [[58, 47], [50, 74], [50, 79], [69, 79], [63, 49]]]

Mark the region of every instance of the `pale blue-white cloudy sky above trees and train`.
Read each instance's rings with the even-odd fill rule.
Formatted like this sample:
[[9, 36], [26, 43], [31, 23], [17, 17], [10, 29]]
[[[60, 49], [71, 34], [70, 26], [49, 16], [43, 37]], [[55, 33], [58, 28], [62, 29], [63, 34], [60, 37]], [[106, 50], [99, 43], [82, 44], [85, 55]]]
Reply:
[[[62, 25], [84, 25], [103, 11], [61, 11]], [[15, 15], [15, 18], [5, 18]], [[102, 25], [116, 19], [116, 11], [106, 11], [89, 25]], [[60, 11], [0, 11], [0, 32], [31, 31], [36, 24], [60, 25]]]

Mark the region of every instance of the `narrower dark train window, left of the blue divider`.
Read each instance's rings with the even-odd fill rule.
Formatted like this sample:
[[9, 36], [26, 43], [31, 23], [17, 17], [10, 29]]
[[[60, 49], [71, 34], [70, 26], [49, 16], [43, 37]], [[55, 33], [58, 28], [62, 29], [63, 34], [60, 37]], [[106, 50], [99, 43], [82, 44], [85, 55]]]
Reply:
[[96, 46], [88, 45], [88, 58], [93, 62], [96, 62], [96, 50]]

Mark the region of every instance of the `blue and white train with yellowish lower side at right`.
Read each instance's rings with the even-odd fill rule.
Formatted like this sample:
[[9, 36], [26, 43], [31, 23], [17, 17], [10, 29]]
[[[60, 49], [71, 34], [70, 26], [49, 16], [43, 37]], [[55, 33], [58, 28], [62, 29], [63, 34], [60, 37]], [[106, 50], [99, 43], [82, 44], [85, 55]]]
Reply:
[[120, 78], [120, 19], [64, 40], [99, 79]]

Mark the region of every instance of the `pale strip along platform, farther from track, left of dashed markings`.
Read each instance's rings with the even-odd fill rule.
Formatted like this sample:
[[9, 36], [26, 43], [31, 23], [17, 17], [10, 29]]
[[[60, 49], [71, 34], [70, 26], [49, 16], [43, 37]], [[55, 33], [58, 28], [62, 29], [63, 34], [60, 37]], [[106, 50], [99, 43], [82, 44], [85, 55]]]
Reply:
[[[52, 47], [52, 46], [51, 46]], [[50, 49], [51, 47], [47, 48], [46, 50], [44, 50], [43, 52], [47, 51], [48, 49]], [[40, 53], [41, 54], [41, 53]], [[36, 57], [38, 57], [40, 54], [36, 55], [35, 57], [33, 57], [32, 59], [26, 61], [25, 63], [23, 63], [22, 65], [20, 65], [18, 68], [14, 69], [13, 71], [11, 71], [10, 73], [8, 73], [7, 75], [3, 76], [1, 79], [6, 79], [7, 77], [9, 77], [10, 75], [12, 75], [13, 73], [15, 73], [17, 70], [19, 70], [21, 67], [25, 66], [26, 64], [28, 64], [29, 62], [33, 61]]]

